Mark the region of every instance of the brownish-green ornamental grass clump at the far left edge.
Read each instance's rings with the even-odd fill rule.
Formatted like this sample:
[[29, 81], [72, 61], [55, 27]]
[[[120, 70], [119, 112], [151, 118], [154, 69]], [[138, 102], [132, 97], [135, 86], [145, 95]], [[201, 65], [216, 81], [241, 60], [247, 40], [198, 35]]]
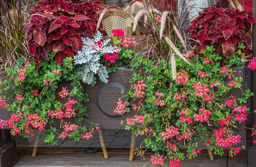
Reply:
[[8, 4], [6, 0], [0, 5], [0, 70], [14, 68], [16, 59], [23, 57], [29, 59], [28, 50], [24, 41], [24, 25], [29, 15], [30, 1], [24, 4], [22, 0], [15, 4]]

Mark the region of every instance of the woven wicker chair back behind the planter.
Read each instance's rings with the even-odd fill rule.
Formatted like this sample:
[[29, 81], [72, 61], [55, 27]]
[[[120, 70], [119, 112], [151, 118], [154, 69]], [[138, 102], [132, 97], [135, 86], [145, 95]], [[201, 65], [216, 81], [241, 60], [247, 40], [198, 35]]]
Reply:
[[[125, 13], [119, 9], [110, 9], [108, 13], [102, 18], [104, 30], [108, 34], [108, 37], [112, 37], [111, 31], [113, 29], [122, 29], [125, 36], [131, 34], [131, 28], [134, 17], [131, 14]], [[140, 35], [140, 30], [137, 28], [134, 35]]]

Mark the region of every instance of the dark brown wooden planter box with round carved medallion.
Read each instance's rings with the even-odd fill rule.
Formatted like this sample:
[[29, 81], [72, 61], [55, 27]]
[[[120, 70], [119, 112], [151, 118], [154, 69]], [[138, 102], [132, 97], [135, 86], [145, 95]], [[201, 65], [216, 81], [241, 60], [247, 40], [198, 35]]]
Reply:
[[[233, 70], [236, 70], [235, 76], [242, 77], [242, 89], [247, 88], [247, 78], [245, 77], [245, 68], [244, 67], [233, 67]], [[130, 78], [134, 74], [134, 71], [131, 69], [118, 69], [115, 73], [109, 74], [109, 82], [107, 84], [99, 82], [94, 86], [83, 85], [83, 90], [89, 94], [90, 101], [86, 102], [84, 105], [87, 106], [87, 112], [84, 113], [86, 119], [90, 122], [100, 124], [101, 129], [106, 130], [125, 130], [125, 126], [120, 125], [121, 120], [125, 120], [127, 117], [132, 117], [136, 113], [131, 109], [130, 113], [126, 113], [124, 116], [118, 116], [118, 114], [113, 113], [113, 110], [116, 108], [118, 99], [124, 94], [121, 94], [121, 91], [128, 91], [131, 89], [131, 83], [129, 82]], [[225, 84], [228, 84], [231, 79], [225, 78]], [[65, 103], [64, 99], [58, 97], [58, 92], [61, 91], [62, 87], [67, 87], [67, 90], [71, 90], [72, 86], [70, 82], [61, 82], [59, 83], [59, 88], [56, 91], [56, 99], [60, 100], [62, 103]], [[226, 96], [233, 95], [235, 98], [241, 96], [241, 90], [238, 88], [233, 88]], [[65, 99], [67, 100], [67, 99]], [[124, 99], [122, 98], [124, 101]], [[0, 108], [0, 119], [9, 119], [10, 113], [5, 109]], [[72, 122], [72, 119], [67, 121]], [[82, 122], [82, 126], [90, 126], [86, 121]], [[245, 122], [242, 122], [242, 127], [245, 127]], [[57, 126], [58, 127], [58, 126]], [[6, 128], [6, 127], [5, 127]], [[6, 128], [8, 129], [8, 127]], [[246, 131], [245, 128], [238, 127], [235, 130], [235, 134], [241, 136], [241, 143], [239, 146], [244, 146], [246, 148]], [[201, 133], [197, 133], [198, 136], [201, 136]], [[44, 137], [44, 135], [42, 135]], [[20, 138], [20, 137], [19, 137]], [[195, 141], [196, 142], [196, 141]], [[199, 147], [205, 148], [203, 145], [199, 144]]]

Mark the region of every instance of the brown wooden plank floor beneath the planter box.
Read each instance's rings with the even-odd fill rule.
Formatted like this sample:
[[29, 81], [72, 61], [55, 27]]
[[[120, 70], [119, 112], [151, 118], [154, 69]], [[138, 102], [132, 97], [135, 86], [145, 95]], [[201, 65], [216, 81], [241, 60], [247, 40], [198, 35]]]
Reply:
[[[36, 157], [32, 157], [32, 147], [17, 147], [18, 163], [14, 167], [151, 167], [147, 162], [151, 159], [150, 152], [143, 158], [134, 156], [134, 161], [128, 161], [129, 149], [108, 148], [109, 159], [104, 159], [102, 151], [85, 154], [84, 148], [38, 147]], [[184, 152], [185, 154], [185, 152]], [[166, 163], [168, 160], [166, 159]], [[246, 151], [230, 158], [227, 151], [223, 156], [215, 156], [209, 161], [206, 150], [195, 159], [185, 159], [181, 167], [247, 167]]]

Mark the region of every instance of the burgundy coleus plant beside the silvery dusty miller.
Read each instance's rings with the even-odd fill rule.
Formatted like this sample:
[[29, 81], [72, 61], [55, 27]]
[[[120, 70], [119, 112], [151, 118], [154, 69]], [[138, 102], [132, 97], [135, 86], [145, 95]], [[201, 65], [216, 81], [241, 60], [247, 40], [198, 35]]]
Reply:
[[49, 59], [49, 51], [56, 54], [55, 60], [61, 64], [66, 56], [73, 57], [81, 50], [81, 37], [96, 33], [96, 11], [104, 9], [100, 4], [102, 1], [73, 4], [66, 0], [42, 0], [30, 10], [26, 40], [37, 68], [43, 59]]

